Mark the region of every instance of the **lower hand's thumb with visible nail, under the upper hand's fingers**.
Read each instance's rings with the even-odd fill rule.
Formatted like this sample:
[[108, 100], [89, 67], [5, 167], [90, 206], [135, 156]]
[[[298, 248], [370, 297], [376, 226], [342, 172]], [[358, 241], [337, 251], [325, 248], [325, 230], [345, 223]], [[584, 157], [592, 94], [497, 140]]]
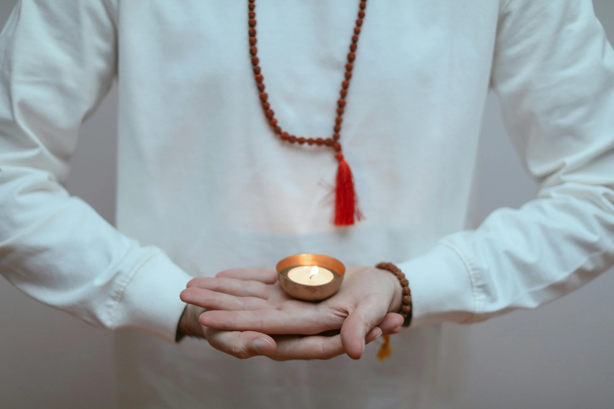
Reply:
[[259, 332], [220, 331], [206, 328], [204, 336], [216, 350], [230, 354], [239, 359], [252, 356], [274, 354], [277, 344], [273, 338]]

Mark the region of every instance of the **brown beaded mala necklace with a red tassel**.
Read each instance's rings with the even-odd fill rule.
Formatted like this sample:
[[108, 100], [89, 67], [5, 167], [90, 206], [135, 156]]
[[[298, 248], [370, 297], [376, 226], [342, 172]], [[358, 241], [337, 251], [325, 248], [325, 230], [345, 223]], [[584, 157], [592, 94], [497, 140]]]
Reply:
[[365, 7], [367, 2], [362, 0], [359, 5], [358, 19], [356, 20], [356, 26], [354, 27], [354, 35], [352, 36], [352, 42], [349, 45], [348, 63], [346, 64], [345, 79], [341, 82], [340, 99], [337, 100], [337, 117], [335, 118], [335, 126], [333, 126], [333, 135], [330, 138], [305, 138], [296, 137], [290, 135], [284, 131], [278, 124], [278, 120], [275, 118], [275, 113], [271, 109], [271, 104], [268, 102], [268, 94], [265, 93], [264, 77], [261, 73], [262, 69], [258, 66], [258, 48], [256, 43], [256, 1], [249, 0], [248, 8], [249, 20], [249, 53], [252, 56], [252, 66], [254, 66], [254, 79], [260, 91], [260, 101], [262, 102], [262, 109], [268, 120], [269, 125], [273, 128], [273, 131], [278, 134], [282, 140], [290, 143], [298, 143], [303, 145], [317, 145], [321, 147], [325, 145], [332, 148], [335, 151], [335, 158], [339, 161], [339, 167], [337, 169], [336, 187], [335, 187], [335, 224], [336, 226], [351, 226], [354, 224], [354, 218], [360, 220], [361, 215], [357, 207], [356, 193], [354, 192], [354, 182], [352, 180], [352, 171], [349, 169], [348, 162], [344, 161], [343, 153], [341, 151], [341, 143], [339, 143], [339, 132], [341, 131], [341, 123], [343, 122], [343, 112], [346, 105], [345, 97], [348, 94], [349, 81], [352, 78], [352, 69], [354, 68], [354, 59], [356, 59], [356, 48], [358, 43], [358, 36], [360, 34], [360, 26], [362, 26], [362, 19], [365, 17]]

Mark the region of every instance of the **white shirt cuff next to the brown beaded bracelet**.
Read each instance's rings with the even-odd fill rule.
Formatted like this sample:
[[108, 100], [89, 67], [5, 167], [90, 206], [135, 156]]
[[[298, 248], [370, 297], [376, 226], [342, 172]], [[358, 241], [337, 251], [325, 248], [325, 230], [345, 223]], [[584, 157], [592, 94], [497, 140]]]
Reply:
[[475, 315], [470, 270], [453, 248], [438, 244], [429, 253], [397, 266], [410, 282], [410, 327], [465, 323]]

